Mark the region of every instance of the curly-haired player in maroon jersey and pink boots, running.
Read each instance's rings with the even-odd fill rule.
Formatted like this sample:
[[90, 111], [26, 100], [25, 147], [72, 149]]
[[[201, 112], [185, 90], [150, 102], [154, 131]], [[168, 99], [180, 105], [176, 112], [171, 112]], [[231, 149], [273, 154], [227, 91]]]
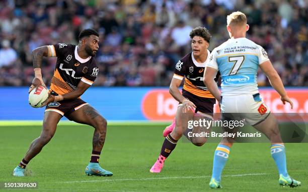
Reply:
[[[192, 52], [183, 57], [177, 64], [171, 80], [169, 92], [179, 101], [175, 118], [174, 129], [166, 135], [158, 160], [153, 164], [150, 172], [161, 172], [165, 159], [177, 145], [177, 141], [184, 134], [193, 144], [201, 146], [206, 142], [205, 137], [192, 137], [191, 133], [201, 132], [205, 127], [187, 129], [189, 120], [200, 118], [212, 119], [215, 98], [207, 90], [203, 83], [205, 63], [209, 59], [207, 50], [211, 35], [206, 28], [197, 27], [190, 32]], [[185, 77], [182, 94], [179, 86]], [[214, 78], [213, 78], [214, 80]], [[189, 132], [191, 132], [189, 134]]]

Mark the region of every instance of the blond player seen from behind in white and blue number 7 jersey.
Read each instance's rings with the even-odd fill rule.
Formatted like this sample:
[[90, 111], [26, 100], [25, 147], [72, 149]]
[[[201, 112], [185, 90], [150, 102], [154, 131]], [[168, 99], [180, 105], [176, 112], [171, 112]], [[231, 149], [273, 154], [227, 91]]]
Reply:
[[[279, 184], [299, 186], [300, 182], [292, 179], [287, 173], [285, 147], [277, 121], [260, 98], [257, 86], [258, 67], [266, 74], [273, 88], [279, 93], [283, 104], [288, 102], [293, 107], [293, 103], [287, 96], [282, 81], [268, 59], [266, 51], [246, 39], [248, 29], [245, 14], [234, 12], [227, 16], [227, 31], [230, 39], [212, 51], [210, 61], [205, 67], [204, 83], [220, 102], [222, 118], [233, 119], [228, 116], [230, 113], [239, 115], [269, 138], [272, 144], [271, 154], [279, 171]], [[221, 94], [213, 80], [217, 71], [221, 75]], [[223, 138], [215, 150], [212, 178], [209, 183], [211, 188], [221, 187], [221, 172], [233, 142], [233, 138]]]

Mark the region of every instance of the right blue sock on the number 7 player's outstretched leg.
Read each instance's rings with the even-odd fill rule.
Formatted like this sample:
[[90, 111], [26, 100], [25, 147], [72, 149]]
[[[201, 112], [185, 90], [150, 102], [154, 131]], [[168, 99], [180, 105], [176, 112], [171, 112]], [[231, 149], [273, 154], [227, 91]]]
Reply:
[[286, 159], [285, 159], [284, 145], [272, 144], [271, 145], [271, 154], [272, 154], [273, 159], [276, 162], [276, 166], [278, 168], [279, 174], [282, 174], [283, 176], [288, 176], [288, 172], [286, 170]]

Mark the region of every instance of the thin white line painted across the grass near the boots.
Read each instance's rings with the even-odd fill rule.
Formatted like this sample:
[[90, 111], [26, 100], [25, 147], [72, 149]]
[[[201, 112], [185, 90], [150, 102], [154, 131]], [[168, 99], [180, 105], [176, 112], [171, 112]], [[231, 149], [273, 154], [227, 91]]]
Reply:
[[[253, 175], [266, 175], [268, 173], [247, 173], [247, 174], [230, 174], [222, 175], [223, 177], [231, 176], [253, 176]], [[80, 181], [64, 181], [60, 183], [79, 183], [79, 182], [113, 182], [113, 181], [133, 181], [133, 180], [159, 180], [159, 179], [185, 179], [185, 178], [209, 178], [211, 176], [166, 176], [166, 177], [150, 177], [150, 178], [119, 178], [119, 179], [106, 179], [106, 180], [80, 180]], [[104, 177], [106, 178], [106, 177]]]

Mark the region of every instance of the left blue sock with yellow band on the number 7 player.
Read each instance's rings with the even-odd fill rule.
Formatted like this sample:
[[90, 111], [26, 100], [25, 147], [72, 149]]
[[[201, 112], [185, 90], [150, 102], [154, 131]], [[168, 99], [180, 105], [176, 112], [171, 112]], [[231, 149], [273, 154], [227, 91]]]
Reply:
[[219, 144], [214, 152], [212, 179], [220, 182], [221, 172], [229, 157], [230, 148]]

